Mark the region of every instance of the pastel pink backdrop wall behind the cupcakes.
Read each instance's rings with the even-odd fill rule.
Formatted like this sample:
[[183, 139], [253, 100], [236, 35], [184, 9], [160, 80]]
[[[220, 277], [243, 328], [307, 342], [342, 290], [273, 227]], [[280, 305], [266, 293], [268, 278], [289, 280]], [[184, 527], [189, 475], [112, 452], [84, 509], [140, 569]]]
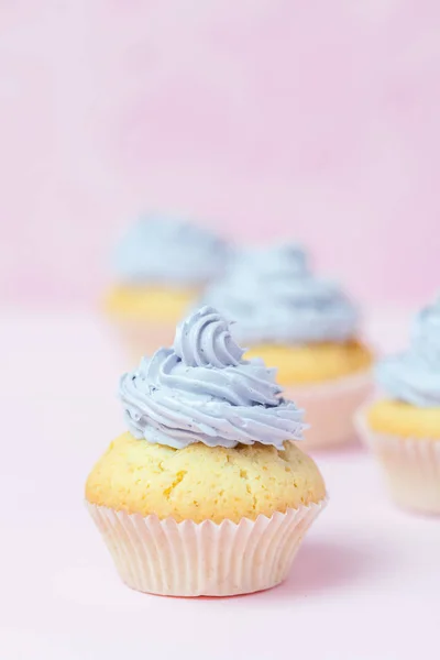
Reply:
[[92, 302], [140, 208], [440, 288], [438, 0], [4, 0], [0, 299]]

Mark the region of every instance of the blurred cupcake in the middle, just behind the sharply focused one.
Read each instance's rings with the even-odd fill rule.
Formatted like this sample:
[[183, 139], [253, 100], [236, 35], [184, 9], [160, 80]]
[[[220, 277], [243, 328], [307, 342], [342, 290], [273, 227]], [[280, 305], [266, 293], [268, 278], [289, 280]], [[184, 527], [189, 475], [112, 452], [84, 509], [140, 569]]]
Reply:
[[341, 288], [316, 277], [295, 244], [252, 250], [202, 297], [237, 323], [237, 337], [278, 369], [286, 396], [307, 410], [306, 447], [354, 436], [353, 414], [371, 387], [372, 353], [356, 308]]

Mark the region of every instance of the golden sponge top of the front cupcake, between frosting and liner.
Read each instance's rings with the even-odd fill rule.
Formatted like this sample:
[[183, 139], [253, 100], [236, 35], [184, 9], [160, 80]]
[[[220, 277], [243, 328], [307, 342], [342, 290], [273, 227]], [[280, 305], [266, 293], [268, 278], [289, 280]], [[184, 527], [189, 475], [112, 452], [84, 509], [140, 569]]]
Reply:
[[202, 443], [175, 450], [136, 440], [130, 432], [110, 444], [86, 484], [91, 504], [195, 522], [270, 517], [324, 496], [315, 462], [292, 442], [284, 450]]

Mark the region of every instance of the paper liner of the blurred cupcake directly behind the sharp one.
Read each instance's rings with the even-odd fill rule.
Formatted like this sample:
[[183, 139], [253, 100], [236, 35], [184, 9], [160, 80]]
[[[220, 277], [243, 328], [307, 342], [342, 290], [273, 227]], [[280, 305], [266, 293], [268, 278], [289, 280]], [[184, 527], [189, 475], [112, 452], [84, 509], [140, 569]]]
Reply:
[[371, 392], [370, 370], [322, 384], [285, 387], [284, 396], [305, 409], [310, 425], [300, 448], [307, 451], [352, 440], [353, 415]]

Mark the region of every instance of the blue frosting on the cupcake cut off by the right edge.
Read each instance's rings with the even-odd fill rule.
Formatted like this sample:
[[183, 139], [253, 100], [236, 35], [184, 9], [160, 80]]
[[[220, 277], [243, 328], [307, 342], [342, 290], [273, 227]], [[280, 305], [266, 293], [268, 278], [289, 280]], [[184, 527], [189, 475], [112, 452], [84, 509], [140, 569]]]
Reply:
[[376, 377], [393, 399], [440, 407], [440, 298], [415, 318], [408, 351], [383, 360]]

